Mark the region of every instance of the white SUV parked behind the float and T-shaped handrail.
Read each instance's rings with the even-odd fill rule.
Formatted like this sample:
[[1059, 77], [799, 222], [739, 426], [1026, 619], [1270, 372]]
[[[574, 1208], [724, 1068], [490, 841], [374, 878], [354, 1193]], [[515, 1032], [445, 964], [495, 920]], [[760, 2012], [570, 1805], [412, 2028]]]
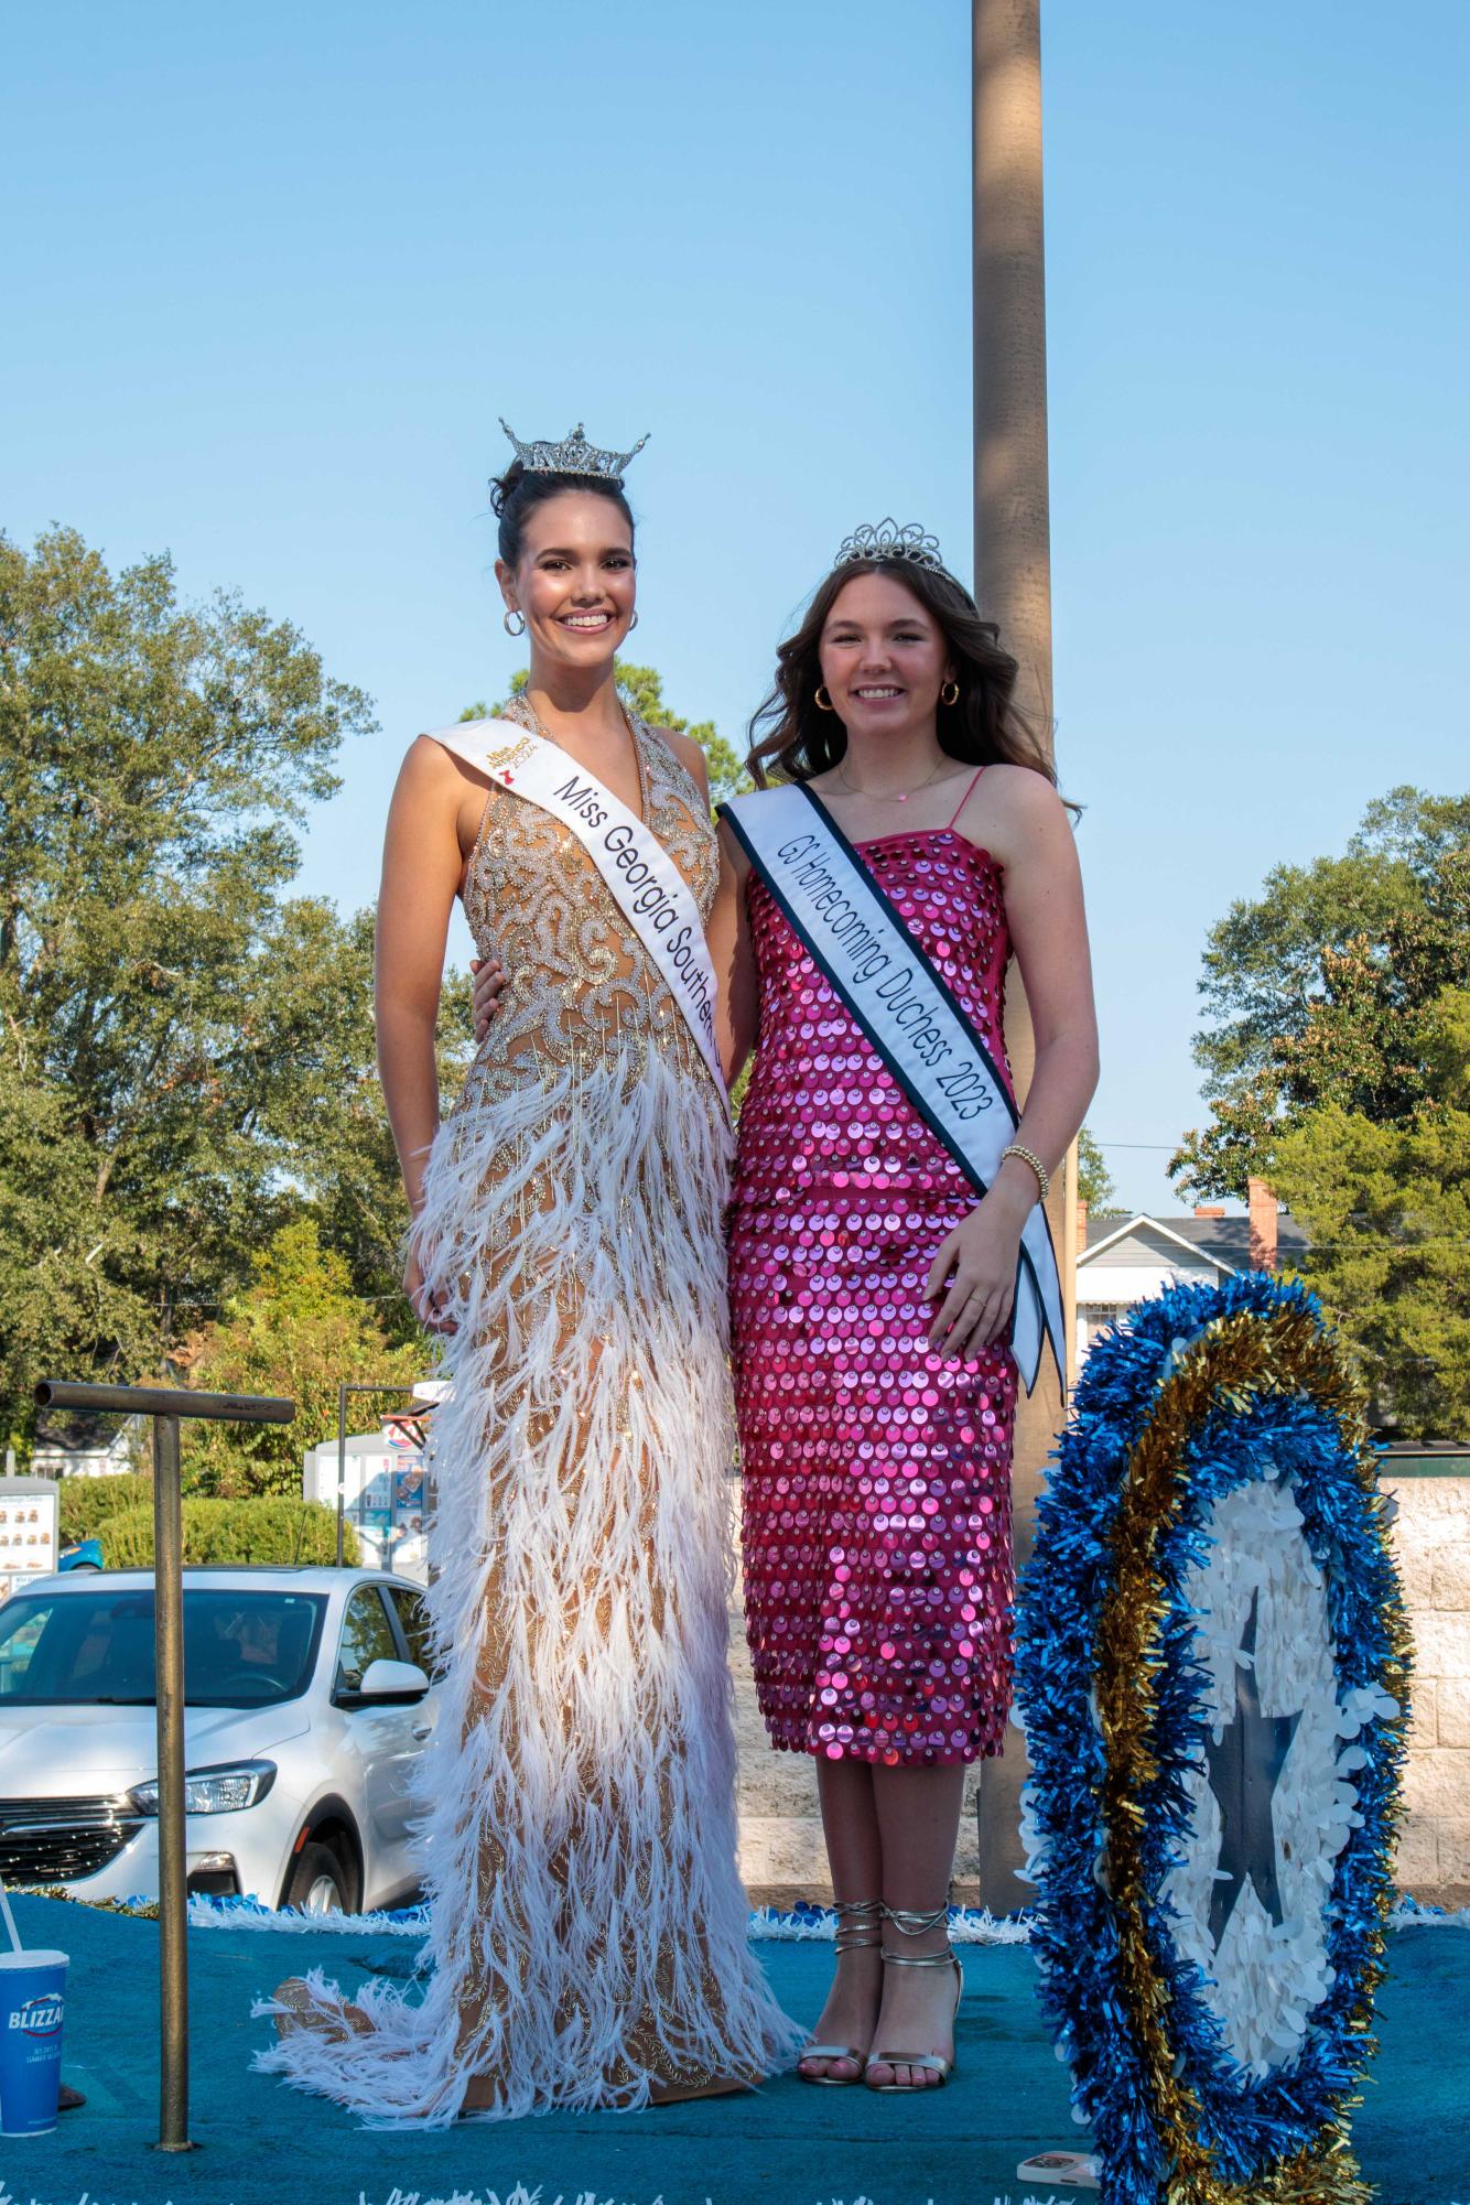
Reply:
[[[408, 1901], [434, 1729], [423, 1592], [368, 1570], [185, 1570], [192, 1892]], [[0, 1874], [159, 1892], [152, 1570], [31, 1579], [0, 1607]]]

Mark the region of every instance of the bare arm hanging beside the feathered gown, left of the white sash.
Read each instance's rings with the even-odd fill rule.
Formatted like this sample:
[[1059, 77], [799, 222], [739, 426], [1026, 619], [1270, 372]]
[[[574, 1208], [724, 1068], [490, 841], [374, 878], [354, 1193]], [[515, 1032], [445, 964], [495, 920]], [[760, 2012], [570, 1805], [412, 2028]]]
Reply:
[[423, 1204], [423, 1166], [439, 1131], [434, 1025], [450, 908], [461, 880], [461, 774], [419, 736], [399, 772], [377, 902], [377, 1069], [408, 1204]]

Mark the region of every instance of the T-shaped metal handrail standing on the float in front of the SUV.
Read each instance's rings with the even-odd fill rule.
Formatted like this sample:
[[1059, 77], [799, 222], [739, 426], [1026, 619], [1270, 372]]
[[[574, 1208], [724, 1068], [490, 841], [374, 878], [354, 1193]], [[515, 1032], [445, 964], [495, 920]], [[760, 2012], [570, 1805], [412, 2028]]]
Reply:
[[190, 2152], [190, 1868], [183, 1824], [183, 1495], [179, 1420], [289, 1424], [293, 1400], [264, 1394], [190, 1394], [161, 1385], [68, 1385], [44, 1378], [40, 1409], [117, 1409], [150, 1416], [154, 1446], [154, 1698], [159, 1709], [159, 2150]]

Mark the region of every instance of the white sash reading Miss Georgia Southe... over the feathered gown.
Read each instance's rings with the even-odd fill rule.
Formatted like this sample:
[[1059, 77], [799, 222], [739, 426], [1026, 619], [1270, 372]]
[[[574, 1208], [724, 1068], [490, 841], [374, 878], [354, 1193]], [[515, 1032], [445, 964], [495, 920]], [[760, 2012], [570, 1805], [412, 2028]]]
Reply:
[[540, 805], [575, 833], [613, 891], [613, 902], [663, 975], [725, 1100], [705, 922], [694, 891], [657, 833], [573, 756], [511, 719], [467, 719], [454, 728], [434, 728], [432, 741], [491, 781], [500, 781], [516, 796]]

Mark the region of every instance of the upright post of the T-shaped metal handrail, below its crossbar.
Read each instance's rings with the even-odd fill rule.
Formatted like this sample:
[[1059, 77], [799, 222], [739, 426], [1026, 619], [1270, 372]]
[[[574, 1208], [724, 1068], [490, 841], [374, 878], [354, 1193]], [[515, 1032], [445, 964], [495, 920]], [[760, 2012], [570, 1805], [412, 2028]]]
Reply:
[[152, 1427], [154, 1698], [159, 1713], [159, 2150], [190, 2150], [190, 1863], [183, 1821], [183, 1502], [179, 1418]]

